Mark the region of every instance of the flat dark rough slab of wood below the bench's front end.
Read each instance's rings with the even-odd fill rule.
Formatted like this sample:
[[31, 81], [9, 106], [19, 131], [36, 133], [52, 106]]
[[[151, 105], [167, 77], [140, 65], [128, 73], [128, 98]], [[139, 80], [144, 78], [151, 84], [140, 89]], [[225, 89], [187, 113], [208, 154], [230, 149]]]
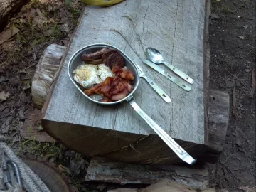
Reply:
[[208, 171], [206, 168], [142, 166], [100, 158], [93, 158], [90, 161], [85, 181], [151, 184], [161, 181], [163, 178], [171, 179], [193, 188], [208, 188]]

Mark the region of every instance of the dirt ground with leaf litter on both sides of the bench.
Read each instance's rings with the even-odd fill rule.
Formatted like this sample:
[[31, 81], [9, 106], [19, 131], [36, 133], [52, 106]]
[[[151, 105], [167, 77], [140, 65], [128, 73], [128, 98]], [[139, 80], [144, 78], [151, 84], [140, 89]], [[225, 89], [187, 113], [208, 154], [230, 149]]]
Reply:
[[[31, 0], [9, 19], [6, 28], [18, 33], [0, 44], [0, 134], [20, 154], [58, 167], [78, 191], [106, 191], [117, 186], [85, 183], [89, 159], [60, 144], [26, 140], [19, 134], [33, 106], [31, 80], [38, 60], [51, 43], [67, 46], [82, 6], [80, 1]], [[208, 164], [210, 186], [241, 191], [240, 186], [255, 186], [256, 178], [255, 92], [251, 93], [255, 1], [212, 0], [209, 30], [210, 87], [230, 93], [225, 149], [217, 164]]]

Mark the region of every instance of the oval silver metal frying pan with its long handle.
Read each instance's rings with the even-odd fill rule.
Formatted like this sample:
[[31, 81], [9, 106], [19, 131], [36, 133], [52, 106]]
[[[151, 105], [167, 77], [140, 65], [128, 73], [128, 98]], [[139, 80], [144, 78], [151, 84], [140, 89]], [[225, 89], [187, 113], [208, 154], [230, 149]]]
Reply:
[[122, 56], [124, 57], [124, 61], [125, 61], [125, 65], [127, 67], [128, 70], [131, 70], [132, 74], [134, 75], [134, 89], [132, 90], [132, 92], [129, 93], [129, 95], [127, 95], [127, 97], [124, 97], [122, 100], [118, 100], [118, 101], [114, 101], [114, 102], [100, 102], [99, 101], [99, 97], [90, 97], [88, 95], [85, 94], [85, 92], [83, 92], [80, 87], [78, 86], [78, 84], [75, 82], [74, 78], [73, 78], [73, 70], [75, 70], [79, 65], [82, 65], [82, 53], [93, 53], [97, 50], [100, 50], [102, 48], [105, 47], [110, 47], [110, 48], [114, 48], [116, 50], [119, 50], [119, 48], [116, 48], [114, 46], [110, 46], [108, 44], [92, 44], [90, 46], [85, 46], [84, 48], [81, 48], [80, 50], [78, 50], [76, 53], [74, 53], [72, 55], [72, 57], [70, 58], [69, 62], [68, 62], [68, 75], [70, 77], [70, 80], [73, 82], [73, 84], [75, 85], [75, 87], [78, 88], [78, 90], [82, 93], [82, 95], [84, 95], [87, 99], [91, 100], [92, 102], [95, 102], [97, 104], [100, 105], [116, 105], [119, 104], [120, 102], [124, 102], [127, 101], [130, 105], [132, 105], [132, 107], [134, 108], [134, 110], [142, 117], [142, 119], [144, 119], [144, 121], [149, 124], [149, 126], [154, 129], [154, 132], [156, 132], [156, 134], [159, 135], [159, 137], [161, 137], [161, 139], [163, 139], [163, 141], [174, 151], [174, 153], [183, 161], [185, 161], [188, 164], [195, 164], [196, 163], [196, 159], [193, 159], [192, 156], [190, 156], [179, 144], [177, 144], [174, 139], [172, 139], [169, 134], [166, 134], [166, 132], [164, 131], [164, 129], [161, 129], [161, 127], [159, 127], [158, 124], [156, 124], [156, 122], [154, 122], [153, 119], [151, 119], [149, 117], [149, 115], [147, 115], [140, 107], [139, 105], [137, 105], [137, 103], [134, 101], [134, 97], [132, 97], [133, 93], [137, 90], [137, 87], [139, 86], [139, 72], [137, 70], [136, 65], [132, 62], [132, 60], [125, 55], [122, 50], [119, 50], [119, 52], [122, 54]]

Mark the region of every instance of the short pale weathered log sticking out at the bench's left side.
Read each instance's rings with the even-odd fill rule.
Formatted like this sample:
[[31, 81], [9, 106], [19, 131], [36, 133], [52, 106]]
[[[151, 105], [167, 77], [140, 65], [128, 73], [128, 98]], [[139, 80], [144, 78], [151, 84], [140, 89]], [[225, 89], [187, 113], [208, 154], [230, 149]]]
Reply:
[[64, 52], [64, 46], [51, 44], [46, 48], [38, 62], [35, 75], [33, 76], [31, 93], [33, 104], [40, 110], [46, 101], [50, 86], [55, 80], [55, 75], [58, 74], [60, 60]]

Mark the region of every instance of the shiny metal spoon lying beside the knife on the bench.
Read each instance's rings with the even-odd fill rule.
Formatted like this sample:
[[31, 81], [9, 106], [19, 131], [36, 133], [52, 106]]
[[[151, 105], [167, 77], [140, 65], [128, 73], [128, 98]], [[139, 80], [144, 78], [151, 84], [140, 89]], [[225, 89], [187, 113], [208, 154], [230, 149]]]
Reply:
[[173, 65], [171, 65], [171, 64], [167, 63], [166, 61], [164, 61], [164, 57], [159, 52], [159, 50], [157, 50], [155, 48], [146, 48], [146, 54], [147, 54], [149, 60], [151, 60], [153, 63], [156, 63], [156, 64], [163, 63], [168, 68], [170, 68], [174, 73], [176, 73], [178, 76], [183, 78], [183, 80], [186, 80], [190, 84], [193, 84], [194, 81], [193, 81], [192, 78], [190, 78], [188, 75], [186, 75], [181, 70], [179, 70], [176, 67], [174, 67]]

